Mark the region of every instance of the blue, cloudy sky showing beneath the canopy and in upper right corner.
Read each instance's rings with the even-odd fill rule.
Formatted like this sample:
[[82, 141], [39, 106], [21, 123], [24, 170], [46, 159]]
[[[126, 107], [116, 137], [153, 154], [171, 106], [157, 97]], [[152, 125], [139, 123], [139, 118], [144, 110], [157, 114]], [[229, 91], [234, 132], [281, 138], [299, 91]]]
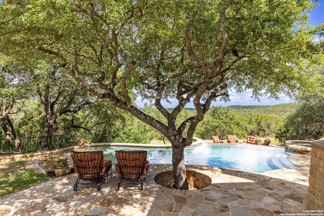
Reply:
[[[309, 24], [311, 25], [319, 25], [324, 23], [324, 0], [317, 1], [317, 4], [319, 4], [315, 9], [313, 9], [310, 12], [310, 18], [309, 18]], [[236, 93], [231, 92], [229, 94], [229, 102], [221, 102], [216, 101], [212, 103], [212, 106], [231, 106], [231, 105], [257, 105], [257, 106], [264, 106], [264, 105], [274, 105], [274, 104], [285, 104], [285, 103], [291, 103], [292, 101], [289, 97], [285, 96], [284, 94], [279, 95], [279, 100], [276, 99], [269, 99], [268, 97], [264, 96], [260, 98], [260, 102], [257, 100], [254, 100], [251, 98], [252, 91], [242, 92], [242, 93]], [[139, 107], [143, 107], [145, 101], [142, 102], [140, 98], [136, 100], [136, 104]], [[169, 103], [163, 103], [163, 105], [167, 108], [173, 108], [176, 104], [169, 104]], [[193, 108], [192, 104], [188, 104], [186, 108]]]

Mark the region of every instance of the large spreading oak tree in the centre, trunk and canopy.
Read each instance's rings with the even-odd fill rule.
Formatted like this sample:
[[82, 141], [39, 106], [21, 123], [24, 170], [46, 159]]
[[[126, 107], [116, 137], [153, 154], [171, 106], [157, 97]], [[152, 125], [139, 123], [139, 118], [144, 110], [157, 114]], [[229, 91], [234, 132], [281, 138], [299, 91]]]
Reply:
[[[151, 125], [172, 143], [175, 187], [187, 189], [184, 148], [229, 90], [293, 96], [310, 85], [317, 52], [310, 0], [2, 1], [1, 50], [54, 56], [85, 91]], [[316, 62], [315, 62], [316, 63]], [[154, 102], [164, 123], [134, 104]], [[175, 101], [172, 111], [163, 101]], [[196, 115], [176, 124], [185, 105]]]

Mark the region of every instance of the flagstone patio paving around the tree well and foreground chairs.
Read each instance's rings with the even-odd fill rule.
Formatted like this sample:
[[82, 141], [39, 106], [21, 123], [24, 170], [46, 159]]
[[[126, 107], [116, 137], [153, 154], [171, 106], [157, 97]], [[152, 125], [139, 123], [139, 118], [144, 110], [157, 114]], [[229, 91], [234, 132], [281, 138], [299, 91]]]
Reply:
[[[1, 198], [15, 215], [284, 215], [307, 209], [309, 158], [306, 166], [254, 174], [200, 165], [186, 169], [201, 172], [212, 184], [198, 190], [176, 190], [158, 185], [155, 175], [171, 164], [151, 164], [143, 191], [123, 187], [117, 191], [113, 168], [109, 182], [94, 187], [78, 185], [77, 175], [54, 178]], [[295, 182], [294, 182], [295, 181]], [[91, 186], [91, 185], [90, 185]]]

